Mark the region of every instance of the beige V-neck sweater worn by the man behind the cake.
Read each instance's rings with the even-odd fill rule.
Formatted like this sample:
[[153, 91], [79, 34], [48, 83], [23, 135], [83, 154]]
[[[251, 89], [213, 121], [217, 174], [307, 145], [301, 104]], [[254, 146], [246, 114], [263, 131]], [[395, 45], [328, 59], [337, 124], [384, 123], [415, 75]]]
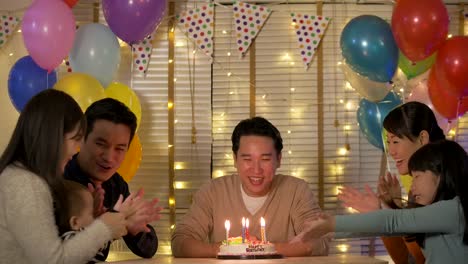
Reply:
[[[178, 247], [186, 237], [210, 243], [226, 239], [225, 220], [230, 220], [230, 236], [241, 235], [242, 217], [249, 218], [249, 233], [260, 238], [260, 217], [266, 221], [266, 236], [270, 242], [287, 242], [298, 235], [307, 220], [321, 211], [314, 194], [301, 179], [275, 175], [263, 206], [251, 215], [244, 205], [239, 176], [224, 176], [202, 186], [195, 194], [192, 206], [177, 223], [172, 246]], [[318, 241], [327, 253], [326, 240]], [[315, 247], [314, 247], [315, 248]]]

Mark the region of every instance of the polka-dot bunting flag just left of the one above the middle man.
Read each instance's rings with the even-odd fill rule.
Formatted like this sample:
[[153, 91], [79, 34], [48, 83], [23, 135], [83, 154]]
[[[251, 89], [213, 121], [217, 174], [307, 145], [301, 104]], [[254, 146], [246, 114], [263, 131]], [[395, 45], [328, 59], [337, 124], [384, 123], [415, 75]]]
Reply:
[[213, 55], [214, 4], [209, 3], [177, 15], [181, 29], [210, 58]]

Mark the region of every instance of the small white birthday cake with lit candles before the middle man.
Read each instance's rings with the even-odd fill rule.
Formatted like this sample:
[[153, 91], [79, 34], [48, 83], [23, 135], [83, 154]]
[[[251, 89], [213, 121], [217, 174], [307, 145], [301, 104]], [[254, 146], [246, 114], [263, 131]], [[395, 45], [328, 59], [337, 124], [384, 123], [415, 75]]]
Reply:
[[281, 258], [275, 246], [269, 242], [248, 241], [242, 237], [230, 237], [219, 247], [218, 258]]

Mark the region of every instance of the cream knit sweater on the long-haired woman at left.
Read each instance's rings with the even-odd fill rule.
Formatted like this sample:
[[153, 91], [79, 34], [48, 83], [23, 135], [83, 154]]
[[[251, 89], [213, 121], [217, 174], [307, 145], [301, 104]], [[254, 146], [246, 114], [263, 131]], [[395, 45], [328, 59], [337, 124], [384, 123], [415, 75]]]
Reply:
[[0, 174], [0, 263], [86, 263], [111, 239], [110, 229], [96, 220], [62, 241], [47, 183], [13, 165]]

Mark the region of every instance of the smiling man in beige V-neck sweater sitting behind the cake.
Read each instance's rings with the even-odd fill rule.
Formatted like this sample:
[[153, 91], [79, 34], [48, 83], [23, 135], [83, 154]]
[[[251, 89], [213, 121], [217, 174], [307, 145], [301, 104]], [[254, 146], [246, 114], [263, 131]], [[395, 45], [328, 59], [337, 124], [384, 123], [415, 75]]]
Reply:
[[250, 221], [251, 237], [260, 239], [260, 218], [267, 240], [284, 256], [326, 255], [328, 239], [290, 242], [305, 223], [321, 212], [314, 194], [301, 179], [277, 175], [283, 142], [278, 129], [262, 117], [241, 121], [232, 134], [236, 175], [204, 185], [172, 235], [175, 257], [216, 257], [226, 239], [241, 235], [241, 219]]

